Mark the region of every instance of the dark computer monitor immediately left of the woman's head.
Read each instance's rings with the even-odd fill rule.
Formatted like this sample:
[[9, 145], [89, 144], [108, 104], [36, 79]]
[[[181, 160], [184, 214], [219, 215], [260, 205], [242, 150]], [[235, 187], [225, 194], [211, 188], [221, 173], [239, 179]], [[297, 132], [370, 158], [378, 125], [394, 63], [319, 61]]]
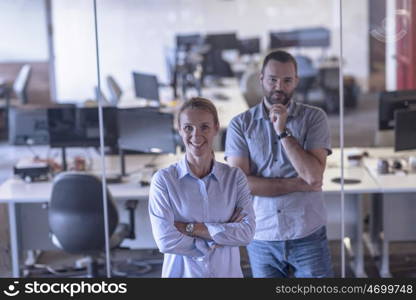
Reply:
[[143, 153], [176, 153], [173, 115], [155, 109], [119, 109], [118, 147]]

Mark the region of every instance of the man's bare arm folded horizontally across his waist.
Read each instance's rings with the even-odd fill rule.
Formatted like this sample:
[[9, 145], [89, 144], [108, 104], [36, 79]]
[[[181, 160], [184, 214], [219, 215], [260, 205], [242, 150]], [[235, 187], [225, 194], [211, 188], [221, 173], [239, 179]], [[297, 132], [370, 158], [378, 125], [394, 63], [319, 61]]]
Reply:
[[250, 175], [250, 161], [247, 157], [229, 156], [230, 166], [240, 168], [247, 176], [248, 185], [253, 195], [276, 197], [293, 192], [313, 192], [321, 190], [321, 183], [307, 184], [302, 178], [263, 178]]

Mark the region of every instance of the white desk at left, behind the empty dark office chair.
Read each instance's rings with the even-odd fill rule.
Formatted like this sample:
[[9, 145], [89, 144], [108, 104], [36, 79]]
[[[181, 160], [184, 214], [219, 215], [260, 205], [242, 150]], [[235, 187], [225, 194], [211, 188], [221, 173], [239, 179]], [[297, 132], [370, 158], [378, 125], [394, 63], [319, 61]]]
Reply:
[[[126, 166], [127, 172], [137, 172], [141, 168], [144, 168], [144, 165], [149, 161], [153, 161], [154, 155], [141, 155], [141, 156], [127, 156], [126, 157]], [[169, 164], [177, 161], [179, 157], [175, 155], [160, 155], [157, 156], [157, 159], [153, 161], [157, 168], [163, 168], [168, 166]], [[95, 163], [96, 169], [92, 170], [93, 172], [100, 171], [100, 163]], [[108, 170], [120, 170], [119, 165], [119, 157], [106, 157], [106, 167]], [[150, 170], [152, 171], [152, 170]], [[132, 176], [134, 179], [134, 176]], [[137, 178], [136, 178], [137, 179]], [[147, 200], [149, 194], [149, 187], [140, 187], [137, 183], [137, 180], [133, 181], [126, 181], [121, 184], [108, 184], [108, 189], [110, 190], [113, 199], [120, 204], [120, 202], [129, 200], [129, 199], [137, 199], [137, 200]], [[22, 245], [22, 238], [20, 236], [19, 230], [19, 219], [17, 218], [18, 215], [18, 205], [19, 204], [38, 204], [38, 207], [31, 206], [30, 209], [35, 208], [38, 213], [41, 212], [39, 208], [40, 205], [43, 203], [48, 203], [50, 199], [50, 195], [52, 192], [52, 182], [38, 182], [38, 183], [26, 183], [20, 179], [11, 178], [5, 181], [0, 186], [0, 202], [4, 202], [8, 204], [9, 209], [9, 226], [10, 226], [10, 239], [11, 239], [11, 254], [12, 254], [12, 272], [14, 277], [19, 277], [20, 270], [19, 270], [19, 254]], [[144, 211], [147, 212], [147, 204], [143, 205]], [[20, 214], [20, 213], [19, 213]], [[43, 214], [46, 215], [46, 212]], [[140, 234], [138, 235], [138, 239], [143, 241], [142, 248], [156, 248], [156, 245], [153, 241], [152, 233], [150, 230], [150, 221], [144, 218], [140, 218], [143, 216], [143, 210], [136, 213], [137, 223], [136, 228], [139, 228]], [[30, 216], [30, 214], [29, 214]], [[123, 216], [120, 216], [120, 220], [123, 219]], [[47, 218], [30, 218], [30, 222], [36, 224], [33, 226], [34, 230], [37, 230], [37, 226], [47, 226]], [[39, 223], [37, 223], [39, 222]], [[140, 227], [142, 227], [140, 229]], [[47, 227], [46, 227], [47, 228]], [[145, 228], [145, 230], [143, 230]], [[43, 228], [43, 231], [45, 229]], [[42, 231], [42, 229], [38, 229], [38, 232]], [[48, 229], [46, 229], [46, 234]], [[45, 234], [45, 232], [43, 232]], [[36, 238], [33, 234], [29, 234], [29, 238]], [[38, 243], [41, 243], [37, 241]], [[131, 246], [132, 241], [126, 241], [126, 244], [122, 244], [123, 246]], [[45, 247], [42, 245], [42, 247]], [[140, 247], [139, 247], [140, 248]], [[44, 250], [44, 248], [38, 248], [40, 250]]]

